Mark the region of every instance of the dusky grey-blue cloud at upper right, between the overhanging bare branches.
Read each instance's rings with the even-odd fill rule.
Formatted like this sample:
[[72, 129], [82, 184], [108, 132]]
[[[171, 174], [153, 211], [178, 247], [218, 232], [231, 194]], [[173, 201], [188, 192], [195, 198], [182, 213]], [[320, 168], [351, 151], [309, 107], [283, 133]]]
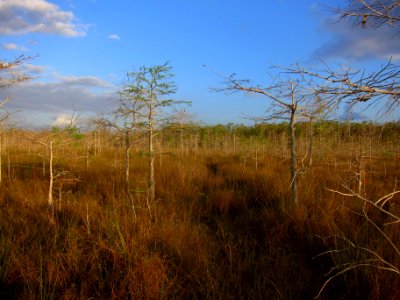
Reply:
[[332, 20], [323, 26], [332, 38], [314, 52], [315, 59], [400, 60], [400, 39], [395, 28], [362, 29], [350, 22]]

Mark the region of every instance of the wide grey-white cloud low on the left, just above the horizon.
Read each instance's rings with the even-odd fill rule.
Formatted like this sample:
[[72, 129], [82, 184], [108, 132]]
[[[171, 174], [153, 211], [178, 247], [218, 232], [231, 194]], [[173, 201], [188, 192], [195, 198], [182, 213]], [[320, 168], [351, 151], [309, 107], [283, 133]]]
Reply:
[[[44, 66], [29, 65], [26, 70], [45, 81], [29, 81], [0, 90], [0, 99], [10, 96], [9, 111], [19, 110], [25, 123], [35, 126], [63, 125], [60, 116], [76, 111], [83, 117], [108, 113], [113, 109], [116, 87], [95, 76], [64, 76]], [[51, 73], [50, 75], [48, 73]], [[40, 116], [46, 115], [46, 120]], [[64, 118], [65, 119], [65, 118]], [[61, 122], [61, 123], [60, 123]]]

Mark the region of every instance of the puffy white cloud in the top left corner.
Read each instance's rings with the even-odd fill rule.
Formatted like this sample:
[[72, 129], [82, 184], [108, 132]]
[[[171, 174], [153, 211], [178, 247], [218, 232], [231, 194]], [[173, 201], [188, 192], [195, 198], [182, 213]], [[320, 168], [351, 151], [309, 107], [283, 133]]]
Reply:
[[47, 0], [0, 0], [0, 34], [84, 36], [87, 26], [74, 23], [74, 18]]

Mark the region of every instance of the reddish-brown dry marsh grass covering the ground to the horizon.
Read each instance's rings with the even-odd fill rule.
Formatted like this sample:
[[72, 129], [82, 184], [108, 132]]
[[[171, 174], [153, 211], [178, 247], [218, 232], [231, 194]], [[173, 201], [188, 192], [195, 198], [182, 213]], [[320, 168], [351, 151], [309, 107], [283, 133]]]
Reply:
[[[303, 125], [300, 166], [309, 142]], [[360, 263], [320, 298], [399, 299], [399, 274], [372, 260], [376, 254], [400, 268], [381, 233], [398, 246], [399, 223], [387, 225], [374, 206], [328, 190], [348, 193], [346, 186], [371, 200], [392, 192], [399, 124], [315, 124], [297, 205], [285, 126], [166, 129], [156, 140], [151, 203], [144, 145], [132, 149], [127, 191], [117, 137], [61, 132], [54, 216], [45, 147], [27, 138], [48, 133], [3, 132], [0, 298], [311, 299], [330, 276]], [[62, 142], [68, 134], [73, 143]], [[399, 216], [399, 200], [394, 195], [385, 209]]]

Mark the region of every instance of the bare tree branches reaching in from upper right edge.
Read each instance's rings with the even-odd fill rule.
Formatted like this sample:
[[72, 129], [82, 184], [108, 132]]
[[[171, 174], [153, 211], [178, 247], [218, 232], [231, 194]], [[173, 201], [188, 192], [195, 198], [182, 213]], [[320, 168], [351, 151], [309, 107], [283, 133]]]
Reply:
[[[342, 19], [353, 21], [362, 28], [393, 28], [393, 38], [398, 39], [400, 24], [400, 1], [398, 0], [350, 0], [347, 5], [331, 8]], [[377, 33], [379, 34], [379, 33]], [[400, 66], [392, 60], [373, 71], [351, 67], [310, 69], [294, 65], [286, 69], [313, 80], [314, 92], [332, 106], [344, 101], [354, 106], [361, 102], [380, 104], [380, 112], [392, 113], [400, 104]]]

